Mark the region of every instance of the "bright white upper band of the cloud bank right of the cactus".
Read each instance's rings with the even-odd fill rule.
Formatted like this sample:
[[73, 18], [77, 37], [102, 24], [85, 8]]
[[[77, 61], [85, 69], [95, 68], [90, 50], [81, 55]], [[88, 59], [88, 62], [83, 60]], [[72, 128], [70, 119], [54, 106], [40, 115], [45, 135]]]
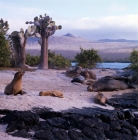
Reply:
[[134, 28], [138, 30], [138, 15], [108, 16], [103, 18], [82, 18], [71, 20], [57, 20], [66, 28], [72, 29], [100, 29], [103, 27]]

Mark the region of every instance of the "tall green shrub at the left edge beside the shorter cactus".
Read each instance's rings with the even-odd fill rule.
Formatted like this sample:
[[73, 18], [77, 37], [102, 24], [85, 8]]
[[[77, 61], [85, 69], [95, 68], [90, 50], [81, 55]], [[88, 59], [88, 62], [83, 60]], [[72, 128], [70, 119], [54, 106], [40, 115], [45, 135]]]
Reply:
[[0, 67], [11, 66], [10, 56], [9, 42], [5, 39], [4, 34], [0, 32]]

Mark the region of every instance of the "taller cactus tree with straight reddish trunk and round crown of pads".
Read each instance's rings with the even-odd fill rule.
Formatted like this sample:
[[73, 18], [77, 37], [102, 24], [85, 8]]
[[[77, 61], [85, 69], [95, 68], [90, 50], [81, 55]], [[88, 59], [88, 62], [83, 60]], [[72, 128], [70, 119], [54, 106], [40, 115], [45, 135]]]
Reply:
[[55, 21], [52, 21], [52, 18], [47, 16], [44, 17], [35, 17], [34, 21], [27, 21], [26, 24], [34, 24], [36, 26], [35, 36], [40, 38], [39, 44], [41, 45], [41, 56], [39, 69], [47, 70], [48, 69], [48, 38], [53, 35], [56, 30], [61, 29], [62, 26], [55, 25]]

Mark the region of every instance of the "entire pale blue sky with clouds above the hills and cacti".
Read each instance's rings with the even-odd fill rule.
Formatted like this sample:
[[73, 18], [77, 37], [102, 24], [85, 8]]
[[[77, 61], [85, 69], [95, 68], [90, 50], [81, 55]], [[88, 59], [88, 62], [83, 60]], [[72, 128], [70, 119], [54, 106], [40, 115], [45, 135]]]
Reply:
[[26, 21], [45, 13], [62, 25], [55, 36], [138, 40], [138, 0], [0, 0], [0, 18], [9, 22], [8, 33], [26, 30]]

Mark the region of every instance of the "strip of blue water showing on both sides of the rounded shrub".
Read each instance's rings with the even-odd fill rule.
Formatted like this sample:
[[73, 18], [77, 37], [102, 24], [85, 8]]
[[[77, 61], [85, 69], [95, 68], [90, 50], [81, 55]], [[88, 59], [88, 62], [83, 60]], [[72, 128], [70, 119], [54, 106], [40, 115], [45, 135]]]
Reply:
[[[72, 66], [76, 66], [76, 62], [72, 62]], [[97, 63], [97, 68], [109, 68], [109, 69], [123, 69], [130, 65], [131, 63], [120, 63], [120, 62], [104, 62], [104, 63]]]

